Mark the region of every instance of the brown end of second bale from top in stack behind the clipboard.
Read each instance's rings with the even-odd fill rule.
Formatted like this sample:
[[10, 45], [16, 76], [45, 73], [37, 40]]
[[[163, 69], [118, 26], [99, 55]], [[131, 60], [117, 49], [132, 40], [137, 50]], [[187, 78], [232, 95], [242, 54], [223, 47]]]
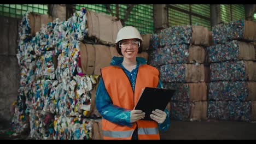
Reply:
[[205, 63], [205, 49], [201, 46], [191, 45], [189, 46], [189, 63]]

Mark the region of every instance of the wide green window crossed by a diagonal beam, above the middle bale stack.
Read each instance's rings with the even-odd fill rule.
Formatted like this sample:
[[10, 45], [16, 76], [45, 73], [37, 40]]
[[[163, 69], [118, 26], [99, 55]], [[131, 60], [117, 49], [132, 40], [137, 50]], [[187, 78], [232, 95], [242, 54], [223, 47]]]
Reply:
[[[207, 27], [209, 30], [211, 29], [210, 4], [191, 4], [191, 5], [170, 4], [170, 5], [179, 9], [183, 9], [185, 11], [168, 8], [169, 26], [197, 25], [197, 26]], [[190, 11], [190, 8], [191, 8], [191, 11]], [[195, 14], [200, 15], [201, 17]], [[190, 17], [191, 17], [191, 21], [190, 21]]]

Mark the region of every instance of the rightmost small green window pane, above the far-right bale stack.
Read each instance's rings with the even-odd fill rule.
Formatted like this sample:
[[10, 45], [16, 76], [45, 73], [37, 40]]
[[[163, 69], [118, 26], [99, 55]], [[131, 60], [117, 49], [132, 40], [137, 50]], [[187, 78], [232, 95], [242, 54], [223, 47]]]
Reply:
[[231, 4], [232, 20], [245, 19], [245, 6], [243, 4]]

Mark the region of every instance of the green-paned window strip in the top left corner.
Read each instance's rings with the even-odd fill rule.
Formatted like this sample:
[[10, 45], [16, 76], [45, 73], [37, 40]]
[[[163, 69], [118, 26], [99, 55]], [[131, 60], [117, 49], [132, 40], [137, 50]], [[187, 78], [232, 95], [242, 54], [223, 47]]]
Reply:
[[22, 18], [27, 12], [32, 11], [38, 14], [47, 14], [47, 4], [0, 4], [0, 15]]

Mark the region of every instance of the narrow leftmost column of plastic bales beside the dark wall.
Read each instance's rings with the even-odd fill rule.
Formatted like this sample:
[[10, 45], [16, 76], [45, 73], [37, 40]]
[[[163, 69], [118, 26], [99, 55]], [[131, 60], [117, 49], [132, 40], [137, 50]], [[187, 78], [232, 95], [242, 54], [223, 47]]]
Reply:
[[29, 13], [26, 13], [19, 25], [19, 44], [16, 57], [21, 69], [20, 88], [18, 98], [13, 103], [13, 118], [11, 121], [15, 133], [27, 133], [29, 131], [29, 116], [26, 112], [26, 97], [31, 91], [34, 81], [34, 69], [36, 67], [36, 53], [34, 47], [36, 43], [32, 39]]

